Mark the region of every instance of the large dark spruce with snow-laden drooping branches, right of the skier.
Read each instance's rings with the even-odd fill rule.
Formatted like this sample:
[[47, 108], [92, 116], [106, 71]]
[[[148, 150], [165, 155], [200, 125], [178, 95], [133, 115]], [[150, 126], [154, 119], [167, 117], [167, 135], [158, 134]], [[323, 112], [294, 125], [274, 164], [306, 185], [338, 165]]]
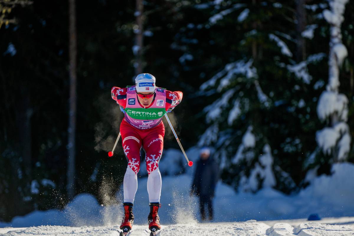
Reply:
[[[275, 188], [293, 190], [317, 145], [316, 107], [327, 78], [318, 69], [326, 66], [328, 48], [322, 11], [328, 4], [302, 6], [307, 21], [296, 27], [295, 12], [302, 11], [297, 4], [201, 2], [189, 9], [198, 22], [182, 28], [172, 45], [182, 51], [182, 77], [194, 74], [195, 81], [204, 82], [214, 75], [202, 83], [201, 96], [190, 101], [196, 107], [200, 101], [210, 104], [200, 114], [208, 126], [201, 126], [199, 145], [215, 147], [222, 178], [236, 189], [257, 191], [272, 183], [258, 168], [267, 169], [260, 157], [270, 150], [273, 161], [267, 163], [273, 163]], [[298, 42], [303, 28], [305, 41]]]

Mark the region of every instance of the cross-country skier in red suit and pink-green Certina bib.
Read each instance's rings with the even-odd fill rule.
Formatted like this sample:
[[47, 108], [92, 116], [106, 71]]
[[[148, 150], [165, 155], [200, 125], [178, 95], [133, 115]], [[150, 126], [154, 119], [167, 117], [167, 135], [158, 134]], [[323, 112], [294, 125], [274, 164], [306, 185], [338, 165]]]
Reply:
[[145, 151], [145, 163], [148, 171], [147, 189], [150, 202], [148, 216], [149, 229], [152, 232], [161, 229], [158, 210], [161, 207], [161, 174], [159, 161], [164, 148], [165, 126], [162, 116], [172, 111], [182, 100], [182, 92], [171, 92], [155, 86], [155, 77], [151, 74], [139, 74], [135, 86], [113, 87], [111, 96], [124, 113], [120, 124], [122, 146], [128, 161], [124, 175], [124, 215], [120, 229], [129, 232], [134, 215], [132, 212], [135, 194], [138, 188], [137, 173], [140, 168], [140, 149]]

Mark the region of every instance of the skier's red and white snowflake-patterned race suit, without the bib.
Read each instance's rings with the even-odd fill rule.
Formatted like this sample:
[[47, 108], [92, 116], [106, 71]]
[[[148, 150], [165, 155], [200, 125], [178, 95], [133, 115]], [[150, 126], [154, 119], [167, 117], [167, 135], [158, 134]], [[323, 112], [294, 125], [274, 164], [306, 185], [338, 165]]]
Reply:
[[[129, 104], [127, 104], [127, 90], [129, 88], [119, 88], [113, 87], [111, 91], [112, 98], [120, 105], [123, 111]], [[160, 89], [160, 88], [159, 88]], [[164, 91], [165, 97], [165, 109], [171, 110], [175, 108], [182, 100], [183, 93], [180, 91], [171, 92]], [[131, 97], [132, 94], [129, 95]], [[161, 98], [161, 96], [159, 97]], [[136, 104], [139, 104], [141, 108], [144, 108], [136, 97]], [[145, 108], [147, 111], [150, 107], [155, 104], [155, 99], [151, 105]], [[135, 193], [137, 190], [137, 173], [140, 169], [140, 149], [141, 147], [145, 151], [145, 163], [148, 177], [148, 193], [150, 203], [160, 202], [161, 195], [161, 174], [159, 171], [159, 161], [162, 155], [162, 150], [164, 148], [164, 136], [165, 136], [165, 126], [162, 120], [160, 123], [156, 123], [152, 128], [139, 128], [138, 125], [132, 124], [132, 119], [127, 121], [126, 117], [128, 114], [125, 113], [125, 118], [120, 124], [120, 133], [122, 137], [122, 146], [124, 149], [124, 154], [128, 161], [127, 171], [124, 176], [123, 188], [124, 188], [124, 202], [133, 203], [135, 198]], [[148, 125], [146, 122], [145, 126]]]

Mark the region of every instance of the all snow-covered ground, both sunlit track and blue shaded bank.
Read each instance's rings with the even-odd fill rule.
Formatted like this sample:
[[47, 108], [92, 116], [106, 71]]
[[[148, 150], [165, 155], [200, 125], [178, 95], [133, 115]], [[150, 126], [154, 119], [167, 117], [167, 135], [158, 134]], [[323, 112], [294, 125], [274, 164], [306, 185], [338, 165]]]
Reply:
[[[160, 162], [161, 172], [170, 174], [162, 177], [161, 236], [215, 235], [216, 230], [221, 231], [219, 235], [354, 235], [353, 163], [334, 164], [330, 176], [309, 175], [310, 185], [293, 195], [272, 188], [256, 194], [237, 193], [219, 182], [213, 201], [214, 221], [200, 223], [198, 198], [189, 196], [193, 168], [176, 168], [184, 157], [178, 160], [178, 153], [170, 152]], [[190, 152], [188, 156], [194, 162], [198, 158]], [[172, 175], [180, 172], [184, 174]], [[148, 235], [146, 184], [147, 178], [138, 179], [131, 236]], [[92, 195], [80, 194], [62, 211], [34, 211], [0, 222], [0, 235], [119, 235], [121, 199], [122, 192], [118, 192], [117, 199], [99, 205]], [[318, 214], [322, 220], [307, 221], [310, 214]]]

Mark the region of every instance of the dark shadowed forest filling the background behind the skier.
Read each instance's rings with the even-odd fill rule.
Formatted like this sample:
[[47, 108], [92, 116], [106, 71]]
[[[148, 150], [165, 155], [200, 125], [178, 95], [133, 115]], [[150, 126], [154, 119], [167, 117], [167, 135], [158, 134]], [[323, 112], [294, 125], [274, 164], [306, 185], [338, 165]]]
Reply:
[[[8, 6], [4, 2], [0, 1], [2, 8]], [[99, 188], [107, 180], [112, 186], [112, 195], [118, 190], [126, 160], [119, 144], [114, 157], [107, 156], [122, 118], [118, 105], [110, 97], [110, 89], [133, 85], [139, 69], [153, 74], [157, 86], [183, 91], [183, 102], [171, 115], [185, 150], [209, 145], [234, 155], [251, 122], [253, 129], [262, 133], [257, 136], [256, 153], [262, 152], [264, 143], [268, 143], [272, 147], [274, 163], [291, 177], [291, 184], [278, 181], [277, 189], [296, 192], [306, 186], [305, 175], [314, 167], [317, 174], [330, 174], [332, 155], [316, 152], [315, 161], [304, 164], [316, 149], [316, 131], [326, 125], [316, 114], [316, 98], [325, 90], [328, 80], [330, 25], [318, 18], [323, 9], [329, 8], [327, 1], [140, 1], [143, 4], [141, 58], [133, 51], [139, 34], [137, 2], [76, 0], [75, 3], [74, 194], [89, 192], [102, 202]], [[239, 7], [235, 6], [237, 4]], [[0, 28], [0, 220], [3, 221], [34, 209], [62, 208], [71, 198], [67, 188], [69, 3], [35, 0], [10, 6], [11, 11], [2, 11], [2, 14], [6, 13], [7, 18], [14, 20], [1, 21]], [[238, 17], [245, 8], [249, 13], [241, 20]], [[226, 13], [228, 9], [234, 10]], [[221, 19], [210, 20], [223, 11]], [[350, 135], [354, 137], [353, 0], [346, 5], [344, 19], [342, 41], [348, 57], [341, 67], [339, 91], [349, 100], [347, 123]], [[301, 32], [311, 24], [317, 25], [314, 37], [302, 37]], [[293, 52], [290, 57], [282, 54], [279, 45], [269, 40], [271, 33], [283, 37]], [[310, 84], [301, 82], [286, 67], [279, 66], [306, 61], [309, 55], [316, 53], [325, 56], [308, 63], [308, 72], [312, 75]], [[208, 93], [200, 86], [228, 63], [243, 59], [245, 62], [252, 59], [269, 104], [253, 102], [257, 101], [257, 94], [251, 88], [256, 83], [249, 84], [248, 80], [234, 74], [234, 81], [228, 86], [243, 93], [233, 97], [246, 94], [251, 101], [250, 108], [227, 128], [219, 126], [219, 131], [224, 133], [219, 133], [218, 140], [222, 140], [223, 135], [233, 137], [230, 133], [237, 137], [233, 137], [231, 147], [229, 143], [223, 146], [227, 140], [201, 142], [207, 124], [223, 122], [206, 119], [208, 109], [205, 109], [223, 96], [223, 90], [218, 91], [217, 84]], [[322, 86], [314, 88], [318, 81]], [[294, 99], [297, 102], [303, 99], [306, 106], [296, 104], [294, 109], [289, 109], [294, 105]], [[229, 104], [230, 110], [234, 102]], [[227, 119], [228, 115], [221, 113], [220, 116]], [[354, 162], [353, 143], [350, 147], [346, 160]], [[164, 149], [168, 148], [179, 148], [174, 138], [166, 138]], [[232, 158], [232, 155], [227, 156]], [[232, 162], [227, 166], [222, 178], [237, 189], [234, 179], [239, 179], [238, 168], [241, 167]], [[33, 189], [39, 189], [39, 192], [33, 192]]]

